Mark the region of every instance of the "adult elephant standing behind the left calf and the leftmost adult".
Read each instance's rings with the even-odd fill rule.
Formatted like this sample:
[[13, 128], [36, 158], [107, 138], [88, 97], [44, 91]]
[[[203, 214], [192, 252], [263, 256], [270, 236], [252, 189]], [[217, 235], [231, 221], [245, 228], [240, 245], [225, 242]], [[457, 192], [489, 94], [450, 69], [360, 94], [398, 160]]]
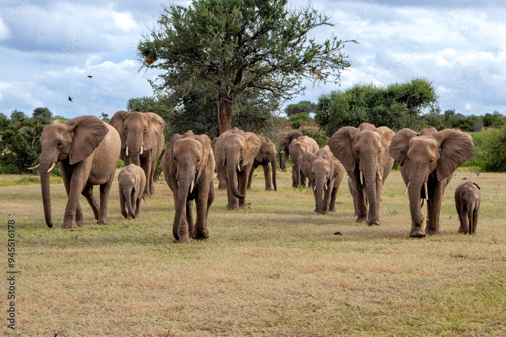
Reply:
[[109, 122], [121, 137], [121, 158], [125, 165], [142, 167], [146, 174], [144, 197], [155, 191], [153, 177], [156, 161], [163, 151], [165, 122], [152, 112], [118, 111]]

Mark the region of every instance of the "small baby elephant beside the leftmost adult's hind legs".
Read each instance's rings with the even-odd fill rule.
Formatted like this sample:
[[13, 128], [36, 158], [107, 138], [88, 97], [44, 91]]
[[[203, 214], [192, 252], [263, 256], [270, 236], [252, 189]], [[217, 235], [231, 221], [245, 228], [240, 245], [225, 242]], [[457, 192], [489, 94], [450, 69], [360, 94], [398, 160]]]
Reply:
[[146, 186], [144, 170], [135, 164], [125, 166], [119, 171], [118, 183], [121, 214], [128, 220], [135, 219], [139, 216], [142, 194]]

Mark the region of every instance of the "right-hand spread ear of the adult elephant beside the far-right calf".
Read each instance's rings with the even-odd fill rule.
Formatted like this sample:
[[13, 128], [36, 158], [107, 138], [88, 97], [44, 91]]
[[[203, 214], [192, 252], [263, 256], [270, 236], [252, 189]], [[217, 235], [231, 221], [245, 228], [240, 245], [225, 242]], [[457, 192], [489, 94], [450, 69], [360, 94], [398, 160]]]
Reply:
[[436, 168], [438, 181], [441, 181], [473, 156], [474, 144], [468, 134], [453, 129], [439, 131], [434, 138], [441, 144], [441, 156]]

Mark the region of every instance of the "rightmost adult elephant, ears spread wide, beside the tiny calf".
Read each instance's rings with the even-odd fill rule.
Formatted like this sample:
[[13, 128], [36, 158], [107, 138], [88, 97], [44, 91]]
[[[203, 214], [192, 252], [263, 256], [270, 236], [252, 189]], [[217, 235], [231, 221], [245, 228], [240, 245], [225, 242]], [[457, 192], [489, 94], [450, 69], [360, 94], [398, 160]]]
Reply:
[[[434, 128], [415, 132], [402, 129], [392, 138], [390, 155], [399, 163], [409, 193], [411, 237], [439, 233], [439, 213], [446, 185], [453, 171], [471, 158], [473, 140], [458, 130]], [[427, 227], [421, 215], [420, 199], [427, 199]]]

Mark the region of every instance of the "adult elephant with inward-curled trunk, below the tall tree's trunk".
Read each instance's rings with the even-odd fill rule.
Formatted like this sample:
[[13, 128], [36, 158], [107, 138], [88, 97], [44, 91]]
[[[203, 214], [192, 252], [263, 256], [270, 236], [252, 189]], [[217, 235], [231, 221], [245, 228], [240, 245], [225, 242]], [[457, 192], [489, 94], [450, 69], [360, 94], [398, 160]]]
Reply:
[[226, 177], [227, 209], [246, 206], [245, 194], [249, 171], [262, 146], [260, 138], [252, 132], [234, 127], [220, 134], [215, 142], [218, 176]]

